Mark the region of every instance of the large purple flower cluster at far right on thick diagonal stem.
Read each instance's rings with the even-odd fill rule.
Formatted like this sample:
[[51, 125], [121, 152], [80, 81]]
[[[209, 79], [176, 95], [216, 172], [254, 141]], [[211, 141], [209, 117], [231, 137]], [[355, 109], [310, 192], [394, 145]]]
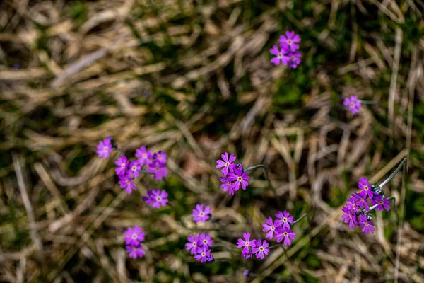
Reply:
[[370, 185], [367, 178], [360, 178], [358, 187], [361, 191], [351, 195], [346, 206], [341, 209], [344, 213], [341, 217], [344, 219], [344, 223], [349, 223], [351, 228], [360, 226], [363, 227], [363, 232], [374, 233], [371, 210], [375, 208], [379, 211], [383, 211], [383, 209], [389, 211], [390, 200], [384, 198], [384, 194], [378, 186]]

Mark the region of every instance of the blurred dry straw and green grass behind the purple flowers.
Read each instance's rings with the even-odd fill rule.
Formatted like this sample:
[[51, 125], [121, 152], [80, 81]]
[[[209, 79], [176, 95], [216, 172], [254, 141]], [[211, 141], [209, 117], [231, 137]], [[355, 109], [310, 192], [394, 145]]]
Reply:
[[[424, 3], [417, 0], [127, 0], [0, 4], [0, 282], [424, 282]], [[300, 34], [302, 63], [274, 66], [269, 49]], [[357, 115], [343, 107], [355, 95]], [[117, 184], [111, 136], [125, 151], [168, 154], [168, 176]], [[246, 191], [220, 189], [228, 151], [249, 173]], [[375, 234], [342, 224], [358, 181], [389, 175], [390, 212]], [[167, 190], [151, 209], [146, 190]], [[184, 250], [203, 226], [230, 262]], [[296, 240], [244, 260], [237, 238], [264, 238], [278, 210]], [[185, 228], [189, 227], [189, 229]], [[128, 258], [127, 226], [146, 231]], [[206, 230], [207, 229], [207, 230]], [[243, 277], [243, 270], [256, 275]]]

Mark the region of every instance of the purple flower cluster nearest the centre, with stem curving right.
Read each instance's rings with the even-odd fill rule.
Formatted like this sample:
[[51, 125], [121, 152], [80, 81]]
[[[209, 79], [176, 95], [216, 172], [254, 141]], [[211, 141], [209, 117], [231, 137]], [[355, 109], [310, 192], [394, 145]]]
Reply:
[[246, 190], [246, 187], [249, 185], [247, 180], [249, 180], [250, 177], [243, 171], [242, 164], [233, 163], [236, 159], [234, 154], [228, 157], [228, 153], [225, 152], [225, 154], [221, 154], [221, 158], [222, 160], [216, 161], [216, 168], [222, 168], [221, 173], [223, 173], [224, 176], [220, 177], [219, 180], [222, 183], [220, 187], [223, 191], [228, 191], [230, 195], [234, 195], [234, 192], [240, 190], [240, 185], [243, 190]]

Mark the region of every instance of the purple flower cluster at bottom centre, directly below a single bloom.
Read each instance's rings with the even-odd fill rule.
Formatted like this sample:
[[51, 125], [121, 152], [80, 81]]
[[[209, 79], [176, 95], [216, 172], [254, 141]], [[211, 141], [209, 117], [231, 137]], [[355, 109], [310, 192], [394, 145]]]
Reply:
[[211, 235], [201, 233], [200, 235], [190, 235], [187, 237], [186, 250], [194, 255], [196, 260], [203, 262], [213, 262], [214, 258], [211, 255], [210, 247], [213, 244]]

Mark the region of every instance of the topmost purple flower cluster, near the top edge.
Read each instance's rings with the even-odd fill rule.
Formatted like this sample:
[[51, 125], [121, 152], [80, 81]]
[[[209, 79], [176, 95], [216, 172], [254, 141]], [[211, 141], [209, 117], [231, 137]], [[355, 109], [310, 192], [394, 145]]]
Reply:
[[269, 52], [276, 57], [271, 59], [271, 63], [275, 65], [283, 64], [288, 65], [290, 68], [298, 67], [300, 64], [300, 52], [298, 43], [300, 42], [300, 36], [295, 34], [294, 31], [287, 30], [285, 35], [280, 35], [278, 43], [280, 48], [274, 45]]

